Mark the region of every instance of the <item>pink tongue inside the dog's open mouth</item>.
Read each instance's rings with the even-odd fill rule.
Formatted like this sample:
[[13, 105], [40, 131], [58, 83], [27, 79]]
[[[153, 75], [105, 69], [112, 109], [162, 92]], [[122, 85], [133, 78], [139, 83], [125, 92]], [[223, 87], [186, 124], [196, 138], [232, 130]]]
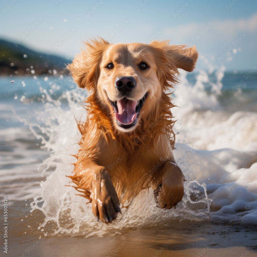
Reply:
[[117, 101], [118, 113], [116, 119], [123, 125], [131, 124], [136, 118], [137, 102], [125, 98]]

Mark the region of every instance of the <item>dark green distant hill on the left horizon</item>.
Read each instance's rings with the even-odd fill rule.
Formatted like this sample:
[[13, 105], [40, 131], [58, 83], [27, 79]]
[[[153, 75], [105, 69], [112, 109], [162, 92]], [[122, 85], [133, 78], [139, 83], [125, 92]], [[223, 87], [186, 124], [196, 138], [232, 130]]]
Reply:
[[0, 39], [0, 75], [24, 75], [31, 70], [35, 75], [68, 74], [67, 63], [71, 60], [53, 54], [47, 56]]

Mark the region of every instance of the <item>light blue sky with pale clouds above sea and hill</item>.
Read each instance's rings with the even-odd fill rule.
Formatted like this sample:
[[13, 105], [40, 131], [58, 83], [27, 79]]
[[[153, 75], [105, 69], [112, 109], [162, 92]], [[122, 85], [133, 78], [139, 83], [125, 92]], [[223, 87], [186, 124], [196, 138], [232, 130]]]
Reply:
[[254, 0], [2, 0], [0, 7], [0, 38], [44, 53], [73, 58], [90, 36], [112, 43], [155, 38], [195, 44], [200, 52], [197, 69], [224, 65], [226, 70], [247, 71], [257, 65]]

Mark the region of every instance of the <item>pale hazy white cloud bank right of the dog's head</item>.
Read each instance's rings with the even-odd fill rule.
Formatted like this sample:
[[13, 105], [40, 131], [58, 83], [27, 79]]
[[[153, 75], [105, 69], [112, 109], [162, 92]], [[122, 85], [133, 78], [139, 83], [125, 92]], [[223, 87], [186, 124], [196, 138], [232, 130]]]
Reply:
[[[243, 69], [256, 63], [257, 13], [246, 19], [210, 20], [163, 29], [162, 38], [172, 39], [171, 44], [196, 45], [203, 60], [209, 59], [213, 67], [225, 65], [228, 69]], [[241, 37], [241, 38], [240, 38]], [[222, 61], [217, 61], [224, 51], [231, 48]], [[234, 53], [233, 53], [233, 49]], [[242, 53], [241, 53], [242, 51]], [[198, 67], [206, 68], [198, 61]]]

